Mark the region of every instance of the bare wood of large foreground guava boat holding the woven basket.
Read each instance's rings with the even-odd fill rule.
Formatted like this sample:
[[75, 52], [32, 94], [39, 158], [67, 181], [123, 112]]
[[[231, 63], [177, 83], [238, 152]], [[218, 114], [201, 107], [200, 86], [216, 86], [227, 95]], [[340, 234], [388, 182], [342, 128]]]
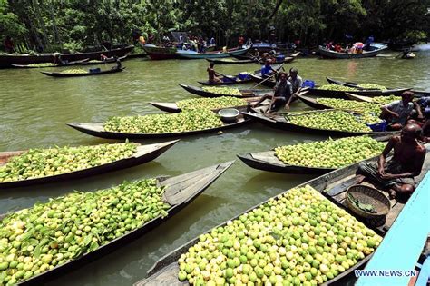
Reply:
[[[370, 159], [370, 160], [375, 160], [375, 159]], [[301, 183], [296, 188], [309, 185], [315, 190], [317, 190], [318, 192], [321, 192], [324, 196], [326, 196], [329, 199], [329, 201], [335, 203], [338, 207], [346, 210], [347, 212], [351, 213], [353, 216], [357, 217], [357, 215], [354, 212], [351, 212], [348, 210], [347, 204], [346, 204], [346, 198], [345, 198], [347, 188], [353, 184], [357, 184], [357, 177], [355, 174], [357, 171], [357, 167], [358, 167], [358, 163], [355, 163], [345, 168], [337, 169], [336, 171], [324, 174], [308, 182]], [[429, 167], [430, 167], [430, 155], [428, 154], [428, 147], [427, 147], [427, 156], [425, 158], [423, 171], [418, 177], [415, 178], [416, 182], [422, 181]], [[278, 196], [279, 194], [272, 198], [269, 198], [269, 200], [276, 199], [276, 197]], [[245, 212], [239, 213], [239, 215], [237, 215], [234, 218], [231, 218], [228, 222], [239, 219], [239, 217], [244, 213], [250, 212], [251, 210], [258, 208], [260, 205], [269, 202], [269, 200], [265, 202], [261, 202], [258, 205], [255, 205], [249, 208], [249, 210]], [[384, 236], [386, 232], [388, 232], [393, 222], [396, 221], [396, 218], [399, 212], [402, 211], [403, 207], [405, 206], [405, 203], [397, 202], [396, 200], [391, 200], [391, 206], [392, 206], [391, 211], [386, 215], [385, 220], [383, 220], [382, 222], [369, 221], [361, 217], [357, 217], [357, 219], [361, 222], [364, 222], [367, 227], [375, 230], [378, 234]], [[227, 222], [223, 222], [217, 227], [225, 226], [226, 224]], [[206, 233], [209, 233], [209, 232], [206, 232]], [[181, 254], [186, 253], [189, 250], [189, 248], [197, 242], [199, 242], [199, 237], [194, 238], [190, 242], [184, 243], [181, 247], [177, 248], [174, 251], [171, 251], [170, 253], [162, 257], [147, 272], [148, 278], [143, 279], [142, 281], [136, 282], [134, 286], [187, 285], [187, 283], [181, 282], [178, 280], [179, 265], [177, 261], [181, 257]], [[356, 265], [352, 266], [347, 271], [340, 273], [339, 275], [337, 275], [337, 277], [329, 281], [326, 281], [322, 285], [346, 285], [347, 284], [346, 281], [350, 280], [351, 275], [354, 275], [354, 271], [357, 269], [362, 269], [366, 265], [366, 262], [369, 261], [371, 257], [372, 257], [372, 254], [366, 255], [365, 258], [361, 261], [358, 261]]]

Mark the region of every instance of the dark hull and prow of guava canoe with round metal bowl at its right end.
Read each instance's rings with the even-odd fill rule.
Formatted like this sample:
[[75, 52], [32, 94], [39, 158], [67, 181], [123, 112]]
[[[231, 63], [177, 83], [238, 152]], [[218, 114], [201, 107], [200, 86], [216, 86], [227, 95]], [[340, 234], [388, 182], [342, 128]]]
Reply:
[[195, 135], [200, 133], [216, 133], [222, 130], [227, 130], [235, 127], [250, 123], [249, 118], [245, 118], [241, 113], [239, 114], [238, 121], [235, 123], [223, 123], [220, 127], [213, 127], [208, 129], [193, 130], [179, 133], [119, 133], [104, 131], [103, 123], [67, 123], [70, 127], [95, 137], [105, 139], [149, 139], [149, 138], [168, 138], [168, 137], [181, 137], [188, 135]]

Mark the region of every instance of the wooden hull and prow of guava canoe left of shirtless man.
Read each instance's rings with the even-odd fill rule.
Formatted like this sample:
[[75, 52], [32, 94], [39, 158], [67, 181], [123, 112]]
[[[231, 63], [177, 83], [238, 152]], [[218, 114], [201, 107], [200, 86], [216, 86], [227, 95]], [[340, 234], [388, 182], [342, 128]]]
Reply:
[[[375, 139], [382, 142], [387, 141], [390, 137], [391, 136], [388, 135], [375, 137]], [[246, 163], [251, 168], [276, 173], [323, 174], [336, 170], [336, 168], [288, 165], [278, 159], [274, 150], [258, 153], [238, 154], [237, 156], [243, 163]]]

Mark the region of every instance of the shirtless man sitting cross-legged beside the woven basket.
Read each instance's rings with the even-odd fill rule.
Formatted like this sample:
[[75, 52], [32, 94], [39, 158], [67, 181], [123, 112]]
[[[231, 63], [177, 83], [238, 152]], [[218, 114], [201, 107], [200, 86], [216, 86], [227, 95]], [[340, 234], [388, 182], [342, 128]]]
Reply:
[[[421, 173], [425, 161], [425, 146], [417, 141], [421, 128], [408, 123], [400, 135], [390, 138], [377, 163], [363, 162], [357, 173], [363, 174], [381, 183], [389, 192], [390, 198], [396, 195], [410, 196], [415, 191], [414, 177]], [[386, 163], [386, 156], [394, 151], [393, 157]]]

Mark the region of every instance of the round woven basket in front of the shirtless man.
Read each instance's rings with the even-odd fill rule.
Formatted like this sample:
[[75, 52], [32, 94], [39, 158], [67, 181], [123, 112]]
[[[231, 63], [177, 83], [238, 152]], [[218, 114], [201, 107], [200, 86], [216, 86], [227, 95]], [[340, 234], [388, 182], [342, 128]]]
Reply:
[[[365, 212], [358, 208], [349, 199], [349, 194], [351, 194], [358, 202], [372, 204], [375, 208], [376, 213]], [[350, 186], [347, 189], [347, 207], [357, 213], [359, 216], [367, 219], [376, 219], [381, 216], [386, 216], [391, 210], [391, 203], [382, 192], [379, 192], [375, 188], [367, 187], [361, 184], [356, 184]]]

